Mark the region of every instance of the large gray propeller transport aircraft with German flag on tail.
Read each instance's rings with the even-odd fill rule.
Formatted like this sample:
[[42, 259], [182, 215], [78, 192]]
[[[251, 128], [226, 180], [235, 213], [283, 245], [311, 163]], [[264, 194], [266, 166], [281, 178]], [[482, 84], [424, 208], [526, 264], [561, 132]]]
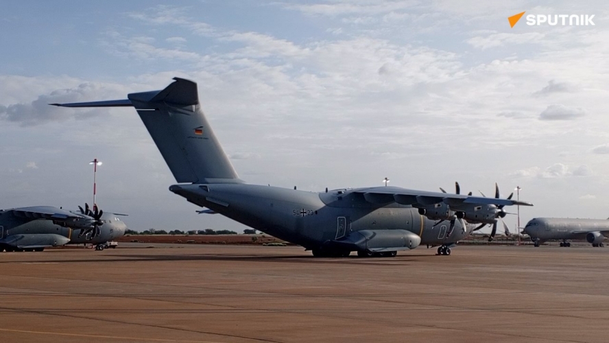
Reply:
[[312, 250], [315, 257], [393, 257], [419, 244], [450, 247], [471, 233], [473, 223], [494, 224], [503, 206], [528, 202], [400, 187], [334, 189], [313, 193], [249, 185], [241, 180], [204, 116], [197, 84], [174, 78], [161, 91], [128, 99], [64, 107], [134, 107], [178, 185], [172, 191], [263, 233]]

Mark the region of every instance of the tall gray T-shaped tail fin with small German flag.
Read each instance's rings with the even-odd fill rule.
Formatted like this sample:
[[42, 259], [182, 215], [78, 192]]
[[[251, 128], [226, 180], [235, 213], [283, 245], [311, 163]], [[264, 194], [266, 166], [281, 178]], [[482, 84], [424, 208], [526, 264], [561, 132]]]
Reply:
[[203, 114], [197, 84], [174, 80], [160, 91], [131, 93], [128, 100], [56, 106], [134, 106], [178, 182], [242, 183]]

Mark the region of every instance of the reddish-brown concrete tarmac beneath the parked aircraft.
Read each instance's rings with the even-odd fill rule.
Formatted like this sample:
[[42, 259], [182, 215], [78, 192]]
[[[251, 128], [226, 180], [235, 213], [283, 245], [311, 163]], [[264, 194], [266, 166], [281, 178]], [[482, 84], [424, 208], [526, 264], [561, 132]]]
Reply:
[[0, 253], [0, 342], [609, 341], [609, 248], [147, 246]]

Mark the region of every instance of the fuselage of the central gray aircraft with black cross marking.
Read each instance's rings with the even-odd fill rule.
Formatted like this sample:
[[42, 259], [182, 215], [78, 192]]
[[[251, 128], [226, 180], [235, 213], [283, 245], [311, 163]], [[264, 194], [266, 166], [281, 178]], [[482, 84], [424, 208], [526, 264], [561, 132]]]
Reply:
[[471, 232], [460, 224], [447, 237], [449, 222], [435, 222], [412, 206], [371, 204], [355, 189], [327, 193], [246, 184], [174, 185], [170, 191], [232, 220], [285, 241], [315, 249], [359, 230], [407, 230], [420, 244], [442, 245]]

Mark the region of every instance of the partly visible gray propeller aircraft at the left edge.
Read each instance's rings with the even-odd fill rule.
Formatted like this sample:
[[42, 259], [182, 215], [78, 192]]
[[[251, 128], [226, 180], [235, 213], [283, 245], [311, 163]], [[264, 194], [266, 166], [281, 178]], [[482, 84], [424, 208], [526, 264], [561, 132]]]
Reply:
[[43, 251], [65, 244], [93, 244], [95, 250], [104, 250], [126, 228], [114, 213], [91, 211], [88, 205], [80, 213], [53, 206], [5, 209], [0, 210], [0, 252]]

